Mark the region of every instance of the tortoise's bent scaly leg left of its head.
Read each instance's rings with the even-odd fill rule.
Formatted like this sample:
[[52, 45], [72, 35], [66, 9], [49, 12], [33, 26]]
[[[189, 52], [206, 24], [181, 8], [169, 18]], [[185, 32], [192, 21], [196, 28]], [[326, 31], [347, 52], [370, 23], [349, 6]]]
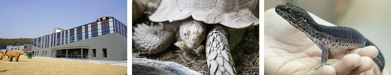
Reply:
[[163, 52], [169, 48], [174, 40], [179, 24], [180, 21], [172, 23], [165, 21], [163, 22], [163, 28], [145, 25], [144, 23], [137, 24], [137, 27], [133, 28], [133, 46], [149, 55]]

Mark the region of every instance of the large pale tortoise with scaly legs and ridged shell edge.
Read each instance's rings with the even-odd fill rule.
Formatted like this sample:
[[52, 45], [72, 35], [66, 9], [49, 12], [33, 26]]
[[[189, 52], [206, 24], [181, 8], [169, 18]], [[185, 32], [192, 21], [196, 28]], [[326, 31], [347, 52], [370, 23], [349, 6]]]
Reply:
[[[158, 30], [138, 25], [132, 37], [134, 46], [157, 54], [176, 39], [174, 45], [185, 52], [200, 54], [205, 50], [211, 75], [236, 75], [230, 49], [242, 40], [245, 28], [259, 25], [258, 8], [258, 0], [162, 0], [149, 20], [164, 26]], [[208, 33], [206, 25], [213, 26]]]

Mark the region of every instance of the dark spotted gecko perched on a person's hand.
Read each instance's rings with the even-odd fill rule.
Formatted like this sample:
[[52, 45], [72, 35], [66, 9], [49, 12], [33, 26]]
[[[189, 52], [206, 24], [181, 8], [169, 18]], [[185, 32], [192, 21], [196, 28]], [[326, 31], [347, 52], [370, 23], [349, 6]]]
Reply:
[[[316, 23], [307, 11], [293, 5], [291, 2], [287, 2], [285, 5], [276, 5], [275, 11], [293, 27], [307, 34], [308, 38], [322, 50], [321, 63], [315, 67], [315, 70], [323, 65], [330, 65], [327, 64], [328, 55], [332, 54], [330, 49], [344, 50], [375, 46], [371, 41], [353, 28], [325, 26]], [[379, 66], [380, 72], [382, 72], [385, 61], [379, 49], [378, 55], [372, 60]]]

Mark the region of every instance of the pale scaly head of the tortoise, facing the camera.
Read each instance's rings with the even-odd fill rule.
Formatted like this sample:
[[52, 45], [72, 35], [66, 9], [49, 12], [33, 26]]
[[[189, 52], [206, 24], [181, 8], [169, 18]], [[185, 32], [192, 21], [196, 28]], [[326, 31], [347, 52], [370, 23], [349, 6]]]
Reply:
[[188, 18], [182, 21], [179, 34], [188, 48], [197, 49], [206, 38], [206, 24], [202, 21]]

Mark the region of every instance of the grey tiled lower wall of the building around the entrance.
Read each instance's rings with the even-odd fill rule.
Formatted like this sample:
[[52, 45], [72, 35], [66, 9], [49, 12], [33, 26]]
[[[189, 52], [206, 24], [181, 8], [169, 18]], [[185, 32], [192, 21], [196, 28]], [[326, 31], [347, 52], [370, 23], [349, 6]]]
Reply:
[[[124, 59], [127, 59], [127, 38], [117, 33], [105, 34], [102, 36], [92, 37], [81, 41], [75, 41], [65, 45], [54, 46], [48, 48], [48, 50], [51, 51], [52, 48], [65, 48], [75, 46], [90, 46], [90, 49], [88, 49], [89, 59], [109, 61], [123, 61]], [[104, 48], [107, 49], [107, 57], [103, 57], [102, 49]], [[96, 57], [93, 56], [92, 49], [96, 49]], [[40, 50], [40, 52], [41, 51], [46, 50]], [[47, 57], [50, 57], [50, 55]]]

